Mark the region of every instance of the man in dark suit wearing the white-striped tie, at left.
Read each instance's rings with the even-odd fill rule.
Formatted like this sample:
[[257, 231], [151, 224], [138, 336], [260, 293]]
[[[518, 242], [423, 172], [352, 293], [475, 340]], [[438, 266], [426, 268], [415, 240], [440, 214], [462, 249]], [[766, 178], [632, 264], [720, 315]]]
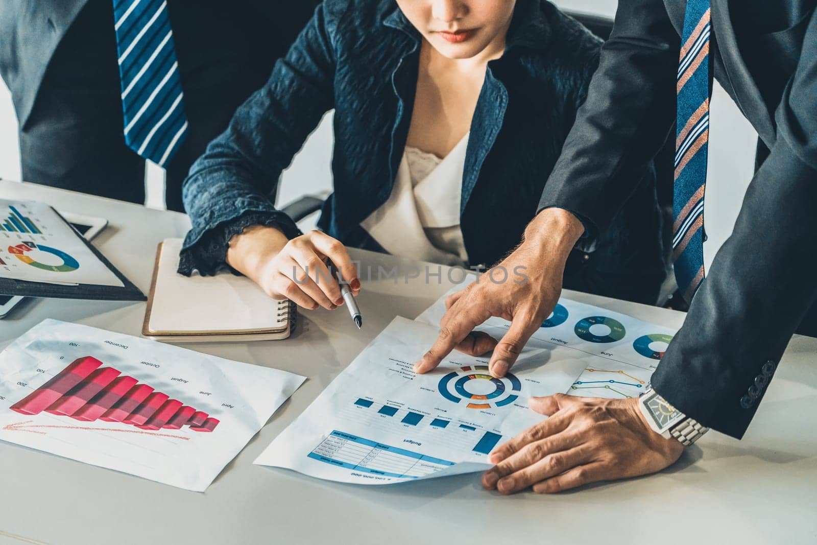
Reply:
[[181, 210], [190, 164], [266, 81], [317, 0], [3, 0], [0, 74], [27, 181]]

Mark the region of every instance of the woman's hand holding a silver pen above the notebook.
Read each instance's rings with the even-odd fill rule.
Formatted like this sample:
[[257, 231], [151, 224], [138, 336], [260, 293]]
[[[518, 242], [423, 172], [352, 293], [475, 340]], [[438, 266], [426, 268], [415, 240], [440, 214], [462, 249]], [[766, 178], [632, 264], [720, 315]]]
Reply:
[[227, 263], [274, 299], [289, 299], [306, 309], [334, 310], [343, 304], [341, 288], [327, 261], [340, 269], [352, 293], [360, 293], [357, 267], [343, 244], [313, 230], [289, 240], [275, 227], [252, 226], [230, 239]]

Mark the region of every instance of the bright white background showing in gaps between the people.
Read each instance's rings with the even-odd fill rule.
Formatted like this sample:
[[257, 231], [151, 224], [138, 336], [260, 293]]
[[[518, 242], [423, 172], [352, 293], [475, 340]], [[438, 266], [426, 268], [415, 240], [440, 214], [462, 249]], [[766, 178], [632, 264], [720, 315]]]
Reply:
[[[0, 0], [2, 1], [2, 0]], [[615, 0], [556, 0], [560, 7], [613, 17]], [[0, 45], [2, 47], [2, 45]], [[730, 235], [743, 193], [752, 177], [757, 134], [720, 86], [712, 96], [710, 113], [709, 172], [704, 221], [709, 235], [704, 245], [707, 266], [717, 248]], [[292, 166], [283, 175], [279, 203], [288, 203], [301, 194], [329, 190], [332, 186], [331, 114], [304, 145]], [[0, 82], [0, 178], [20, 179], [20, 151], [17, 123], [11, 96]], [[163, 175], [149, 168], [147, 204], [163, 207]]]

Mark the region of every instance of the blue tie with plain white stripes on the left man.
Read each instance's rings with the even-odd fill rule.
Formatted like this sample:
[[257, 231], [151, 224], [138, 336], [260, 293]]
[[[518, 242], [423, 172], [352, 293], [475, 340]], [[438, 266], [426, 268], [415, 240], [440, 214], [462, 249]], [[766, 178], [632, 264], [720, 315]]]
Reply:
[[165, 0], [114, 0], [125, 142], [160, 167], [187, 133]]

